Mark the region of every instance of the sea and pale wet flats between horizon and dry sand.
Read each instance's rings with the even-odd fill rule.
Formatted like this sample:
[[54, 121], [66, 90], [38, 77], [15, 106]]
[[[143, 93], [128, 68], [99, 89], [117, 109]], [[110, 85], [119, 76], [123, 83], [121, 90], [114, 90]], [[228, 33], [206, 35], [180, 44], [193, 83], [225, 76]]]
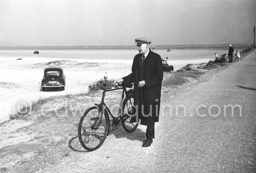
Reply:
[[[252, 45], [232, 45], [235, 50], [243, 50]], [[150, 45], [150, 49], [174, 65], [178, 70], [186, 64], [207, 63], [219, 56], [228, 54], [228, 45]], [[34, 51], [40, 51], [35, 55]], [[138, 53], [135, 45], [116, 46], [0, 46], [1, 57], [43, 57], [43, 58], [85, 58], [133, 60]]]

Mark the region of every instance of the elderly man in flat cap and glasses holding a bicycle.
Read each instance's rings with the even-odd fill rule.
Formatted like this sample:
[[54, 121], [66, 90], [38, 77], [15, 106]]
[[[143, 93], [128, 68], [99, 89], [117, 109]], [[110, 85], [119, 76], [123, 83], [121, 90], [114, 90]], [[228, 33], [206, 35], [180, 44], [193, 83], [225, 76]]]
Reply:
[[136, 38], [135, 43], [139, 54], [135, 55], [132, 73], [119, 79], [124, 86], [134, 83], [135, 116], [130, 122], [141, 119], [141, 124], [147, 126], [146, 140], [142, 147], [149, 147], [155, 138], [155, 122], [159, 121], [161, 87], [163, 79], [162, 58], [150, 50], [149, 38]]

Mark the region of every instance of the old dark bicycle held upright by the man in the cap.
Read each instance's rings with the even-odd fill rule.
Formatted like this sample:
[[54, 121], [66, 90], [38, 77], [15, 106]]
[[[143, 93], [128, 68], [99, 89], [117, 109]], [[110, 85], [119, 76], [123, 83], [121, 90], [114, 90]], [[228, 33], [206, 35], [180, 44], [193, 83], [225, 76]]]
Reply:
[[[88, 108], [80, 119], [78, 138], [82, 147], [88, 151], [94, 151], [101, 147], [108, 136], [110, 132], [109, 115], [113, 118], [113, 128], [117, 128], [122, 124], [124, 130], [131, 133], [135, 131], [139, 125], [139, 121], [130, 123], [130, 119], [133, 115], [133, 89], [127, 90], [126, 87], [120, 86], [116, 89], [108, 89], [107, 85], [112, 86], [115, 83], [98, 83], [103, 85], [104, 88], [101, 103], [94, 104], [95, 106]], [[104, 103], [106, 92], [114, 90], [123, 90], [117, 117], [110, 112], [108, 106]]]

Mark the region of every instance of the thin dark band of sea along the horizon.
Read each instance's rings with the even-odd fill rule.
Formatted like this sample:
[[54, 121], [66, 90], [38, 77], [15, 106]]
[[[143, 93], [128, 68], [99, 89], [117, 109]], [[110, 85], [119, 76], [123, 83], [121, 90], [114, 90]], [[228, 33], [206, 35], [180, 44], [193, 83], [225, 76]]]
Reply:
[[[151, 45], [151, 49], [152, 49]], [[251, 47], [252, 44], [233, 45], [236, 48]], [[154, 45], [155, 49], [227, 49], [228, 45]], [[0, 46], [0, 50], [103, 50], [103, 49], [135, 49], [134, 45], [108, 46]]]

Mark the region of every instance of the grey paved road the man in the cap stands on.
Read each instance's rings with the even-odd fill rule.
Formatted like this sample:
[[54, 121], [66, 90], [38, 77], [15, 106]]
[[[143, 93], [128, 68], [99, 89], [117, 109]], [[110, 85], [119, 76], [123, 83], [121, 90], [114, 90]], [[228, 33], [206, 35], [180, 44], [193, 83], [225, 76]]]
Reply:
[[141, 147], [144, 126], [120, 128], [98, 150], [76, 148], [38, 172], [256, 172], [256, 51], [168, 104], [151, 147]]

